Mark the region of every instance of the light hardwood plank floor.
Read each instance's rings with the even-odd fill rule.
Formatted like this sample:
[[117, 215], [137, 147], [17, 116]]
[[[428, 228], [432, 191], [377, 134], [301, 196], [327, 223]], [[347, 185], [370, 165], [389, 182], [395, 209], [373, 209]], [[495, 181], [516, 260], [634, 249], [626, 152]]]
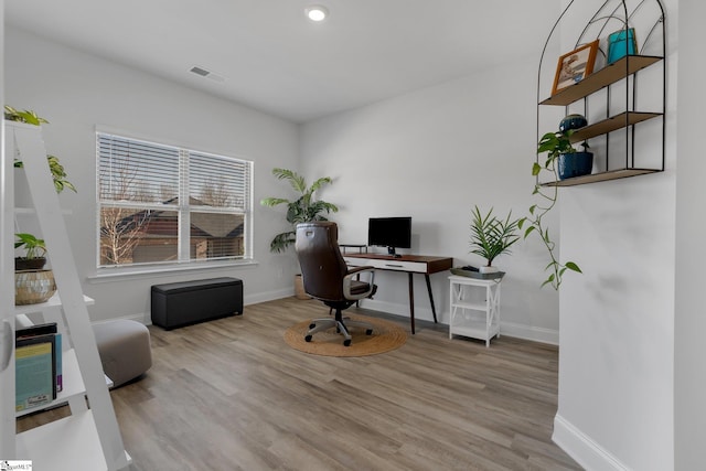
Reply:
[[555, 346], [502, 336], [486, 349], [426, 322], [400, 349], [366, 357], [284, 342], [287, 327], [327, 313], [288, 298], [170, 332], [150, 327], [152, 368], [111, 392], [132, 469], [580, 469], [550, 440]]

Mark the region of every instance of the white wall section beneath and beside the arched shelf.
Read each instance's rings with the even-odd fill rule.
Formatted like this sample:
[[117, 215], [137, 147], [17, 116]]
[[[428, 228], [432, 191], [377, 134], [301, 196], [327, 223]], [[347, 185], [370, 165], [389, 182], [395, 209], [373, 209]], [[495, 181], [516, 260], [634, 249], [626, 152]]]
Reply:
[[[581, 7], [592, 13], [600, 3]], [[666, 3], [674, 34], [676, 1]], [[585, 275], [560, 292], [554, 439], [587, 469], [674, 465], [677, 56], [676, 43], [667, 45], [666, 171], [560, 195], [561, 255], [580, 259]], [[639, 139], [661, 146], [659, 130]]]

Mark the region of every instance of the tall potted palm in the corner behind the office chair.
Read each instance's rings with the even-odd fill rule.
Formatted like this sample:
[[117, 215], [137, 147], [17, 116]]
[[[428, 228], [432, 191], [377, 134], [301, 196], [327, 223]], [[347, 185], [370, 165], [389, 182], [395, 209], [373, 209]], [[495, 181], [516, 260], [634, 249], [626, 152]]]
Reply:
[[[325, 214], [336, 213], [339, 207], [335, 204], [323, 200], [317, 200], [314, 193], [325, 184], [332, 183], [330, 176], [323, 176], [314, 181], [311, 186], [307, 185], [303, 176], [287, 169], [272, 169], [272, 175], [278, 180], [286, 180], [297, 192], [297, 197], [289, 200], [286, 197], [265, 197], [260, 201], [263, 206], [275, 207], [280, 204], [287, 206], [286, 218], [291, 225], [289, 231], [277, 234], [269, 244], [270, 251], [280, 253], [287, 250], [297, 239], [297, 224], [312, 221], [327, 221]], [[303, 291], [301, 275], [295, 278], [295, 290], [298, 298], [308, 298]]]

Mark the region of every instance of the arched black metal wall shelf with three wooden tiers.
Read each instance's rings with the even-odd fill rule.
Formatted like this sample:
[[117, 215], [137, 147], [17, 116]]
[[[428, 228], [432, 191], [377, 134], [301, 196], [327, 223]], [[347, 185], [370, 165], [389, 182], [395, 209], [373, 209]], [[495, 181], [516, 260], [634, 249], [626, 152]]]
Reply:
[[[566, 115], [579, 113], [586, 116], [589, 125], [576, 130], [571, 136], [571, 142], [586, 141], [590, 144], [591, 151], [598, 153], [598, 159], [595, 159], [597, 162], [593, 172], [589, 175], [537, 182], [545, 186], [573, 186], [664, 171], [666, 31], [661, 1], [603, 1], [578, 34], [574, 46], [577, 49], [599, 40], [602, 45], [599, 49], [597, 69], [580, 82], [546, 97], [552, 87], [547, 83], [548, 74], [543, 73], [543, 67], [557, 66], [556, 57], [546, 56], [547, 46], [553, 41], [553, 36], [561, 32], [563, 22], [570, 18], [570, 9], [574, 4], [575, 0], [565, 8], [554, 24], [542, 52], [537, 79], [537, 136], [544, 135], [539, 129], [543, 122], [543, 108], [563, 106]], [[581, 4], [581, 8], [584, 7]], [[570, 24], [567, 28], [576, 26], [575, 21], [568, 21]], [[618, 26], [611, 28], [613, 23]], [[638, 44], [634, 54], [624, 55], [611, 64], [602, 65], [600, 58], [608, 55], [607, 38], [616, 30], [625, 31], [625, 36], [627, 32], [632, 30], [638, 40], [640, 38], [644, 40], [642, 44]], [[661, 71], [654, 71], [655, 67], [661, 67]], [[640, 86], [644, 88], [639, 89], [639, 75], [643, 73], [649, 73], [650, 76], [644, 83], [640, 82]], [[646, 104], [643, 105], [643, 103]], [[657, 120], [661, 122], [654, 125], [653, 122]], [[648, 122], [652, 125], [645, 125]], [[652, 136], [650, 148], [653, 154], [651, 156], [644, 156], [640, 146], [640, 139], [644, 137], [640, 135], [641, 126], [650, 126], [644, 128], [644, 136]], [[653, 144], [655, 127], [660, 128], [661, 133], [659, 146]], [[616, 151], [617, 148], [622, 148], [622, 151]], [[659, 149], [659, 154], [654, 154], [654, 149]], [[537, 162], [539, 159], [541, 157], [537, 156]]]

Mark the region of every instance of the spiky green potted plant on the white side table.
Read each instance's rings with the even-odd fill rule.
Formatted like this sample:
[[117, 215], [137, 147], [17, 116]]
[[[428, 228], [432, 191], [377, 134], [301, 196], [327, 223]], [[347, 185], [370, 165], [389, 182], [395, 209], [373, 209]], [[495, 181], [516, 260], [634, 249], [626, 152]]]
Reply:
[[473, 208], [471, 222], [471, 254], [480, 255], [488, 264], [479, 267], [481, 274], [495, 274], [500, 270], [493, 266], [493, 260], [502, 254], [510, 254], [510, 247], [520, 240], [517, 225], [520, 220], [512, 218], [512, 211], [507, 217], [499, 220], [491, 207], [488, 214], [481, 214], [478, 206]]

